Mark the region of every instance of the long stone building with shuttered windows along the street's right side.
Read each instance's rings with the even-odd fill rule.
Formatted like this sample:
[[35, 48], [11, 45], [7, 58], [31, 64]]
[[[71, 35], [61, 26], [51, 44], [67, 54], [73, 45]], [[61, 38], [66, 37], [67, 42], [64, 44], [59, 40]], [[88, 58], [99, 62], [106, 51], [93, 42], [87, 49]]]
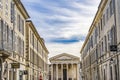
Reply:
[[120, 0], [101, 0], [81, 58], [83, 80], [120, 80]]

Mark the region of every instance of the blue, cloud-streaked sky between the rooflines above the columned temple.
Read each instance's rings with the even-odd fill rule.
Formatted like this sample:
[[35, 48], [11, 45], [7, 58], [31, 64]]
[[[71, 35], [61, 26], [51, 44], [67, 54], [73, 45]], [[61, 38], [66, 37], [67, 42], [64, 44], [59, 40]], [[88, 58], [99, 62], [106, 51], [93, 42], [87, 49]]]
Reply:
[[80, 56], [100, 0], [21, 0], [45, 40], [48, 57]]

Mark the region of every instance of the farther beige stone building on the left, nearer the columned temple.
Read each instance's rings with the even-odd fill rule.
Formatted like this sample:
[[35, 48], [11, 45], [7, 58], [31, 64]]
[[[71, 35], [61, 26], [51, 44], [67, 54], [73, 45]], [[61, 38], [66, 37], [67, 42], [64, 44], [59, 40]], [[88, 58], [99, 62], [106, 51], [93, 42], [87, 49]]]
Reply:
[[27, 80], [43, 80], [48, 78], [48, 50], [43, 38], [38, 34], [32, 21], [26, 21], [26, 56]]

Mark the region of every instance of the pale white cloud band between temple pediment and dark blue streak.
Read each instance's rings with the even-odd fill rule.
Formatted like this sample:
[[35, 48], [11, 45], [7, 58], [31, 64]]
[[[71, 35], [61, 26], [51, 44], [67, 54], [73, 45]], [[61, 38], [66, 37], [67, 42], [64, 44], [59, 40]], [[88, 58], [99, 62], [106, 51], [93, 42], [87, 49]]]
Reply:
[[61, 54], [68, 53], [76, 56], [80, 56], [80, 48], [83, 44], [83, 41], [79, 41], [72, 44], [59, 44], [59, 43], [47, 43], [47, 48], [50, 50], [49, 57]]

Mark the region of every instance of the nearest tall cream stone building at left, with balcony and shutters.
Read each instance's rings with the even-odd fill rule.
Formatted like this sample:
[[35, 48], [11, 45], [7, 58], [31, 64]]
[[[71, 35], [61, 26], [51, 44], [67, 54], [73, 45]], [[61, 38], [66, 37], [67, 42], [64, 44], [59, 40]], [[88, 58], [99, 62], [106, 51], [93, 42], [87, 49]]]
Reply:
[[23, 80], [25, 75], [25, 21], [20, 0], [0, 0], [0, 80]]

